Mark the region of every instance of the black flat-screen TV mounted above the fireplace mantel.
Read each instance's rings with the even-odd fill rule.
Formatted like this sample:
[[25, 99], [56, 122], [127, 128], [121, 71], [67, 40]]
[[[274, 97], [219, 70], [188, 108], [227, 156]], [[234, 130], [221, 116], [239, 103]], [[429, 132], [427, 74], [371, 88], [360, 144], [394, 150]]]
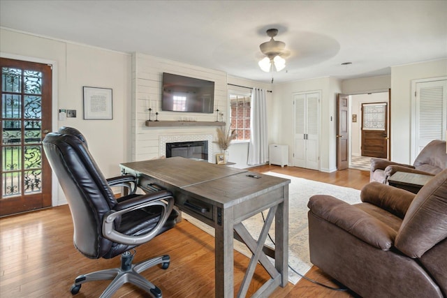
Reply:
[[213, 113], [214, 82], [163, 73], [161, 110]]

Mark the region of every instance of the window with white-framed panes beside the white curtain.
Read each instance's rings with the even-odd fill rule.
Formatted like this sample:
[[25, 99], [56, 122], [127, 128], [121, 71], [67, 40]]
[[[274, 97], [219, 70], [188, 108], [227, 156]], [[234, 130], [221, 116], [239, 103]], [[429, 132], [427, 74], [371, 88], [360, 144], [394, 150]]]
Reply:
[[236, 130], [236, 140], [250, 140], [250, 101], [250, 94], [230, 94], [231, 129]]

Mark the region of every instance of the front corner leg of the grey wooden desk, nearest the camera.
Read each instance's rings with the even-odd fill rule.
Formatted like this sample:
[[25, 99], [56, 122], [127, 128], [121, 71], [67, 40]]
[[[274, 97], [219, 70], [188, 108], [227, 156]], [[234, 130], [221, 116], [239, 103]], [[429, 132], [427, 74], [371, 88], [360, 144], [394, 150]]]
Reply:
[[233, 208], [217, 209], [218, 223], [214, 231], [216, 298], [231, 298], [234, 297]]

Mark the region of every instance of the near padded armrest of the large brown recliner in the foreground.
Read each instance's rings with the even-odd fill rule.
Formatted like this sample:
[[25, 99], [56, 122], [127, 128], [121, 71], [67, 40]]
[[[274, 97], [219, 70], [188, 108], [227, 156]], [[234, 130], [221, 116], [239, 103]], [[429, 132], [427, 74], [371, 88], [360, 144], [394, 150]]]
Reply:
[[397, 232], [377, 218], [330, 195], [314, 195], [307, 204], [312, 214], [349, 232], [367, 244], [388, 251]]

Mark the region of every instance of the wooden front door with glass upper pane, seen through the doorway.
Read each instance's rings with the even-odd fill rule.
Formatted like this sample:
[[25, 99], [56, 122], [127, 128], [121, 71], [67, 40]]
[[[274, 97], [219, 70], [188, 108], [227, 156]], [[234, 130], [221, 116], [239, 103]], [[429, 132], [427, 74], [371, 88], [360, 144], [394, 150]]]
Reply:
[[388, 157], [388, 105], [362, 104], [362, 156]]

